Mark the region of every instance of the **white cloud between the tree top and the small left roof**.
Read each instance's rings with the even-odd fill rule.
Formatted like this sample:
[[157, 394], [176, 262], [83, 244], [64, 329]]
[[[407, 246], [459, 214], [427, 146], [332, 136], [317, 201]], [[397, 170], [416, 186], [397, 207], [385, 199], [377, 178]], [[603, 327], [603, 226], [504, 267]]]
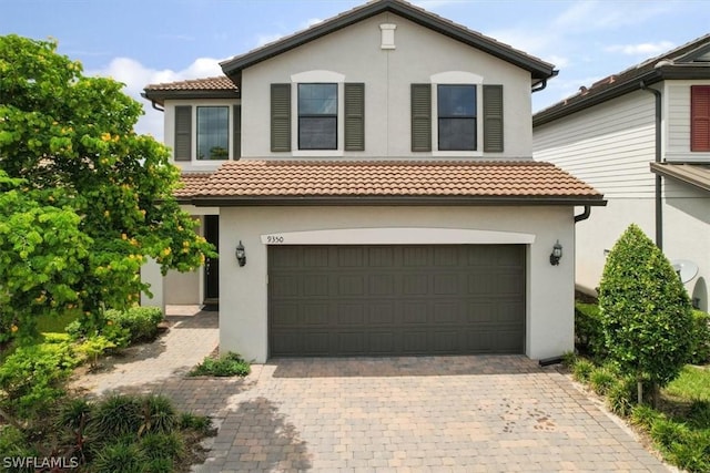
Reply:
[[163, 113], [154, 110], [151, 106], [150, 101], [146, 101], [141, 96], [143, 88], [148, 84], [155, 84], [161, 82], [175, 82], [185, 79], [199, 79], [210, 78], [215, 75], [222, 75], [222, 68], [220, 68], [220, 59], [213, 58], [199, 58], [187, 68], [181, 71], [173, 71], [171, 69], [156, 70], [148, 68], [141, 64], [139, 61], [131, 58], [115, 58], [108, 66], [87, 71], [85, 75], [100, 75], [104, 78], [112, 78], [119, 82], [125, 84], [124, 92], [143, 104], [145, 114], [139, 120], [135, 125], [136, 133], [151, 134], [156, 140], [163, 140]]

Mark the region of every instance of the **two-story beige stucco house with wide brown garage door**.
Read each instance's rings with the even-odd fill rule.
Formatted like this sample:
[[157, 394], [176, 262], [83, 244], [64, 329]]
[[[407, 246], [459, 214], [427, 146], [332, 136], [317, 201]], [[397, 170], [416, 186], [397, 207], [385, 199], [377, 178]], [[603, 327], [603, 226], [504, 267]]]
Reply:
[[377, 0], [222, 69], [144, 94], [181, 202], [219, 219], [222, 350], [572, 349], [575, 208], [606, 202], [532, 160], [530, 94], [551, 64]]

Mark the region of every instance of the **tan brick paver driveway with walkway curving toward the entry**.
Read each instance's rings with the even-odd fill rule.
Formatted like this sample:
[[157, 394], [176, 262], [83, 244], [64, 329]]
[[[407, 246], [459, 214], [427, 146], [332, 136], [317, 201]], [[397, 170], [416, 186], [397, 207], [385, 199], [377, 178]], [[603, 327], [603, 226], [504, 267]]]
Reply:
[[82, 383], [212, 415], [219, 433], [195, 472], [669, 471], [568, 377], [525, 357], [290, 359], [243, 380], [189, 379], [216, 345], [216, 315], [178, 321], [154, 359]]

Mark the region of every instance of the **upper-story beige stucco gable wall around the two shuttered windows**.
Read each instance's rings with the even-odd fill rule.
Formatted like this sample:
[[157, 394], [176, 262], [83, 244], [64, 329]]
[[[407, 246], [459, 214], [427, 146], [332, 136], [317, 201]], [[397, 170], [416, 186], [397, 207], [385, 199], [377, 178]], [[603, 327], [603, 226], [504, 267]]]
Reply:
[[[381, 49], [379, 25], [383, 23], [397, 25], [395, 49]], [[443, 54], [442, 51], [446, 53]], [[403, 18], [383, 13], [243, 71], [244, 157], [290, 158], [297, 155], [294, 151], [271, 152], [270, 84], [292, 83], [294, 75], [302, 73], [317, 76], [320, 71], [325, 76], [338, 74], [344, 82], [365, 84], [365, 151], [344, 152], [342, 136], [338, 136], [338, 150], [323, 155], [345, 155], [352, 158], [432, 157], [432, 153], [410, 151], [410, 84], [430, 83], [434, 75], [443, 72], [463, 72], [480, 76], [481, 84], [504, 85], [505, 152], [491, 153], [490, 156], [530, 156], [532, 137], [529, 72]], [[295, 88], [293, 91], [292, 104], [295, 105]], [[479, 122], [483, 121], [481, 100], [479, 90]], [[292, 110], [295, 107], [292, 106]], [[342, 122], [338, 121], [338, 132], [342, 132]], [[294, 116], [292, 124], [292, 135], [295, 135], [297, 128]], [[478, 130], [480, 132], [483, 125], [479, 124]], [[295, 143], [295, 138], [292, 143]], [[296, 150], [296, 146], [292, 148]], [[480, 133], [478, 150], [483, 150]], [[318, 155], [313, 152], [306, 154]], [[473, 155], [483, 156], [483, 152]], [[466, 153], [466, 157], [470, 156], [470, 152]]]

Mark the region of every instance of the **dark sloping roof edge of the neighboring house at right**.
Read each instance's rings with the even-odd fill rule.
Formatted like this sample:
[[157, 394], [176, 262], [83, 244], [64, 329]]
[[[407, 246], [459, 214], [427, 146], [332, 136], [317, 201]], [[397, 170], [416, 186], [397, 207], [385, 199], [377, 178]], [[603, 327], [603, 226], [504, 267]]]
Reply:
[[708, 63], [692, 61], [693, 54], [707, 53], [709, 49], [710, 34], [706, 34], [621, 72], [608, 75], [590, 86], [582, 85], [575, 95], [535, 113], [532, 125], [541, 125], [639, 90], [641, 81], [650, 85], [666, 79], [710, 79]]

